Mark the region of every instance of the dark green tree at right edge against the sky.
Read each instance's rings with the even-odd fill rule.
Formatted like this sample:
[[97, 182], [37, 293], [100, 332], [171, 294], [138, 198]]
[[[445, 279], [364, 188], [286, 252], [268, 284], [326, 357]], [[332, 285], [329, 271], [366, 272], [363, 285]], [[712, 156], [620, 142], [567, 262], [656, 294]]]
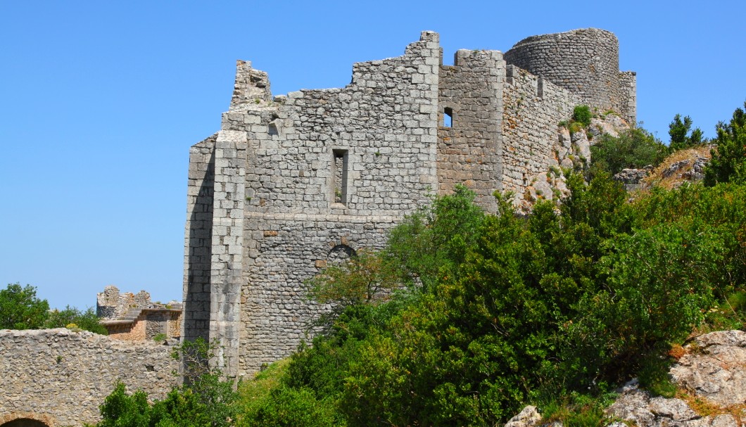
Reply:
[[[746, 102], [744, 103], [746, 108]], [[718, 123], [712, 159], [705, 169], [704, 183], [746, 183], [746, 114], [736, 108], [729, 123]]]

